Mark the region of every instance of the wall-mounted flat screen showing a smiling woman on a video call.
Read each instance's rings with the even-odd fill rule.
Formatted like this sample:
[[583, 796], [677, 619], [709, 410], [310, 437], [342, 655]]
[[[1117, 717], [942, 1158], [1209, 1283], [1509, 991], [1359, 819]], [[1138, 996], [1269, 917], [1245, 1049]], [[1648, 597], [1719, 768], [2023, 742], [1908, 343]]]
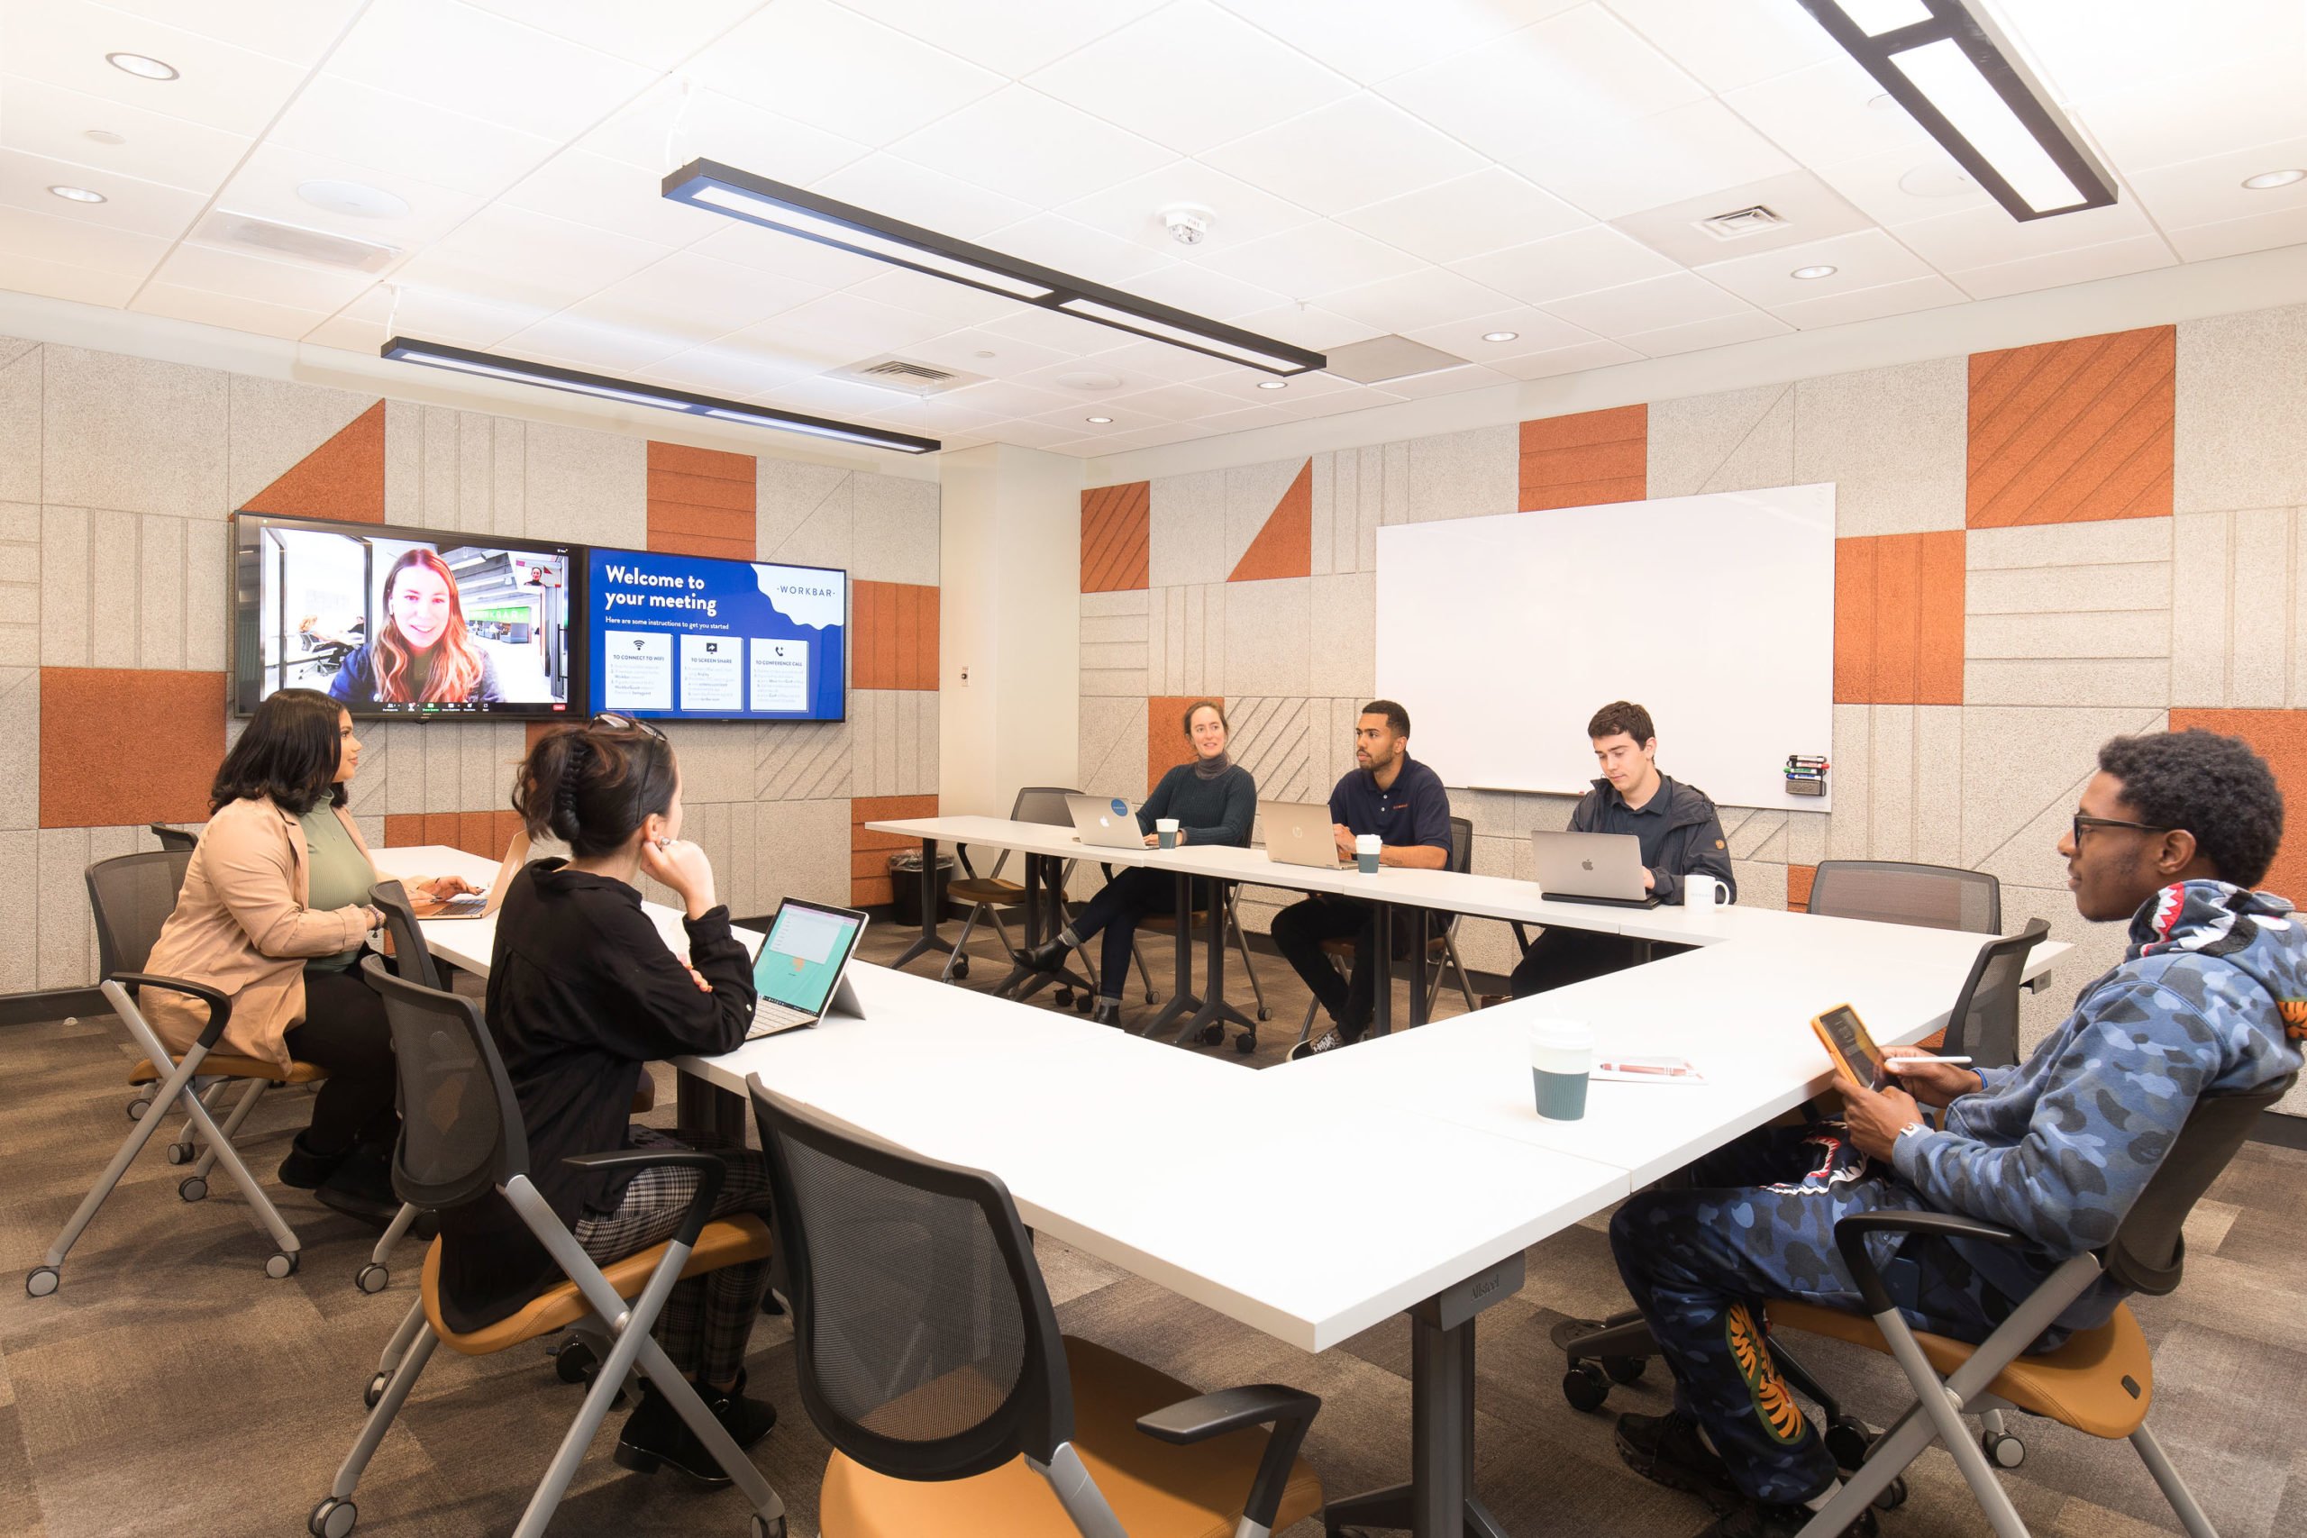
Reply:
[[323, 689], [360, 719], [568, 719], [584, 546], [233, 517], [233, 710]]

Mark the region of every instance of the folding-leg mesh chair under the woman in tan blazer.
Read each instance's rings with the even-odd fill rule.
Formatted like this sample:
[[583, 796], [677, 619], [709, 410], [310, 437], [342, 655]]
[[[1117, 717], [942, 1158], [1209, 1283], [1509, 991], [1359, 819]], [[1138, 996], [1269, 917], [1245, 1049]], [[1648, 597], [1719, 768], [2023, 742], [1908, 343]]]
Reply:
[[[180, 1107], [185, 1111], [185, 1130], [175, 1141], [166, 1144], [171, 1164], [194, 1164], [175, 1185], [175, 1194], [185, 1201], [201, 1201], [208, 1197], [208, 1176], [217, 1164], [224, 1164], [226, 1174], [240, 1188], [240, 1194], [249, 1204], [249, 1215], [256, 1217], [272, 1243], [275, 1252], [265, 1259], [265, 1275], [286, 1277], [295, 1273], [298, 1266], [298, 1238], [288, 1227], [288, 1220], [279, 1215], [272, 1206], [272, 1197], [265, 1188], [256, 1183], [249, 1174], [247, 1162], [242, 1162], [240, 1151], [233, 1146], [233, 1132], [240, 1123], [249, 1118], [256, 1109], [258, 1095], [272, 1084], [314, 1084], [325, 1075], [311, 1063], [291, 1063], [279, 1068], [263, 1058], [245, 1058], [228, 1051], [217, 1051], [217, 1042], [224, 1040], [224, 1026], [233, 1015], [231, 1001], [212, 987], [198, 982], [187, 982], [185, 978], [159, 978], [143, 971], [145, 959], [152, 955], [152, 945], [159, 941], [161, 925], [168, 922], [168, 913], [175, 911], [175, 895], [185, 885], [185, 867], [191, 865], [191, 851], [168, 849], [148, 851], [136, 855], [118, 855], [113, 860], [97, 860], [88, 867], [88, 906], [97, 918], [97, 966], [104, 975], [104, 998], [113, 1005], [113, 1015], [127, 1026], [129, 1038], [143, 1049], [143, 1061], [129, 1070], [129, 1084], [155, 1084], [150, 1105], [138, 1109], [138, 1102], [129, 1102], [129, 1116], [134, 1128], [129, 1128], [127, 1141], [113, 1153], [113, 1162], [104, 1167], [97, 1183], [88, 1188], [88, 1197], [81, 1199], [78, 1211], [65, 1224], [65, 1231], [55, 1236], [48, 1245], [48, 1254], [35, 1266], [25, 1280], [23, 1289], [35, 1298], [46, 1298], [62, 1284], [65, 1257], [72, 1254], [72, 1245], [78, 1243], [81, 1234], [95, 1222], [97, 1208], [104, 1206], [113, 1188], [120, 1185], [120, 1176], [127, 1174], [143, 1146], [152, 1141], [159, 1132], [159, 1123], [166, 1118], [166, 1107]], [[159, 1033], [152, 1031], [143, 1012], [136, 1008], [143, 989], [164, 989], [173, 994], [185, 994], [198, 998], [208, 1005], [208, 1024], [194, 1045], [175, 1056], [168, 1051]], [[161, 1068], [166, 1063], [166, 1068]], [[240, 1100], [233, 1105], [231, 1116], [226, 1116], [219, 1128], [215, 1121], [215, 1109], [219, 1095], [228, 1084], [247, 1084]], [[194, 1144], [198, 1134], [208, 1144], [201, 1151]]]

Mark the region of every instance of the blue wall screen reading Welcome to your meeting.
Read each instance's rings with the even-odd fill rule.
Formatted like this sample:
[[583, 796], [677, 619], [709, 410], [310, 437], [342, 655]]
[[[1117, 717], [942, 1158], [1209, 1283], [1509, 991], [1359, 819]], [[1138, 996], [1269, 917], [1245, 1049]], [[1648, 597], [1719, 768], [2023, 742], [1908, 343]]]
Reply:
[[669, 719], [842, 719], [849, 574], [593, 551], [593, 708]]

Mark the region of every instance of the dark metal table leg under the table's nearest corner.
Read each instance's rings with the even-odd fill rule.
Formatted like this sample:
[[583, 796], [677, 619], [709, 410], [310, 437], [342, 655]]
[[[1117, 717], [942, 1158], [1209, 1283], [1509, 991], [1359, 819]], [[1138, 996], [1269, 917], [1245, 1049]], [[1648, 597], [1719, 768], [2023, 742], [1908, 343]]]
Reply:
[[1523, 1289], [1520, 1252], [1410, 1310], [1410, 1483], [1331, 1501], [1324, 1524], [1497, 1538], [1474, 1496], [1474, 1314]]

